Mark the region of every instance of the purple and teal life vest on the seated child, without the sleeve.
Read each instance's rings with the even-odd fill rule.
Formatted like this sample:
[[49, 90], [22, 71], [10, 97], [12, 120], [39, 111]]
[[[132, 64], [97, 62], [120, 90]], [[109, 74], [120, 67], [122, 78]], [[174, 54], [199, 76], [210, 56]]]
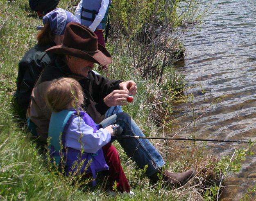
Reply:
[[[96, 153], [87, 153], [81, 152], [77, 149], [72, 149], [70, 147], [64, 147], [66, 132], [68, 131], [70, 123], [75, 117], [77, 117], [77, 115], [82, 117], [84, 122], [93, 128], [93, 132], [96, 132], [99, 129], [99, 125], [95, 124], [92, 118], [83, 111], [79, 111], [79, 114], [77, 114], [77, 111], [69, 110], [63, 110], [57, 113], [52, 112], [48, 133], [48, 136], [50, 137], [50, 154], [53, 160], [55, 160], [56, 164], [65, 165], [67, 175], [73, 174], [77, 170], [77, 165], [75, 168], [73, 167], [76, 161], [80, 162], [84, 160], [84, 164], [82, 165], [81, 169], [79, 169], [79, 172], [92, 173], [94, 178], [93, 186], [95, 186], [96, 172], [109, 169], [108, 165], [106, 164], [102, 148]], [[61, 143], [63, 147], [62, 150]], [[61, 160], [61, 158], [63, 158], [63, 160]], [[88, 166], [89, 160], [91, 163]]]

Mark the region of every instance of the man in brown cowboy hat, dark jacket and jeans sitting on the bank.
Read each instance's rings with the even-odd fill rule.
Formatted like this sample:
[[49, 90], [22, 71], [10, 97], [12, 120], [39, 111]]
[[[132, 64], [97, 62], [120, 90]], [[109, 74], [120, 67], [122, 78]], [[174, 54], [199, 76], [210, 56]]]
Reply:
[[[62, 45], [50, 47], [46, 51], [58, 54], [59, 57], [48, 65], [39, 77], [32, 91], [28, 111], [29, 117], [37, 126], [41, 140], [46, 140], [48, 136], [50, 120], [50, 111], [45, 106], [45, 91], [53, 79], [60, 77], [72, 77], [79, 81], [85, 96], [83, 109], [103, 128], [119, 124], [123, 129], [120, 135], [144, 136], [127, 113], [117, 113], [104, 119], [104, 114], [110, 106], [127, 104], [127, 97], [137, 93], [137, 86], [134, 81], [109, 80], [91, 71], [94, 63], [108, 65], [111, 55], [97, 43], [97, 36], [90, 29], [79, 23], [69, 23]], [[192, 169], [184, 173], [162, 171], [165, 162], [149, 140], [123, 139], [118, 142], [140, 168], [148, 165], [147, 176], [152, 182], [159, 180], [158, 172], [163, 173], [163, 181], [167, 185], [176, 186], [184, 185], [195, 175]]]

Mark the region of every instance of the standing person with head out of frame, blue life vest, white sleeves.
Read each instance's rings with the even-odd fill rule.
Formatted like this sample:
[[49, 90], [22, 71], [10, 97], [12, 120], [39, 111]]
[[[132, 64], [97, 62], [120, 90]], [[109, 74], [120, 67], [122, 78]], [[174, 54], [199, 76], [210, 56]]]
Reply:
[[[98, 43], [105, 47], [103, 31], [111, 0], [81, 0], [75, 10], [75, 16], [82, 25], [93, 31], [98, 37]], [[108, 71], [108, 65], [100, 65], [102, 70]]]

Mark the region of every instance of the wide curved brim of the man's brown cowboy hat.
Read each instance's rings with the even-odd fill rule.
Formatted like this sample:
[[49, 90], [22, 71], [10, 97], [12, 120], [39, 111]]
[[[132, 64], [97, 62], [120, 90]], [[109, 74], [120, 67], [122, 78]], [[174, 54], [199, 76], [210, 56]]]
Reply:
[[56, 45], [50, 47], [47, 50], [45, 50], [45, 52], [52, 52], [55, 54], [68, 54], [102, 65], [108, 65], [112, 61], [109, 52], [100, 44], [98, 44], [98, 52], [96, 53], [86, 53], [82, 50], [77, 50], [75, 48], [66, 47], [63, 45]]

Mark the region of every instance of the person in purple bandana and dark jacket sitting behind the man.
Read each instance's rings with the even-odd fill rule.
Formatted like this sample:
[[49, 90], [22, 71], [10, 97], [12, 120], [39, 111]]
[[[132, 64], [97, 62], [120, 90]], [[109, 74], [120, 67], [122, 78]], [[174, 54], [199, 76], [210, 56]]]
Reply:
[[61, 8], [46, 14], [43, 17], [44, 27], [37, 35], [38, 43], [29, 49], [19, 62], [14, 106], [21, 119], [26, 119], [32, 89], [41, 71], [56, 59], [56, 54], [45, 50], [61, 44], [66, 25], [70, 22], [78, 22], [78, 19]]

